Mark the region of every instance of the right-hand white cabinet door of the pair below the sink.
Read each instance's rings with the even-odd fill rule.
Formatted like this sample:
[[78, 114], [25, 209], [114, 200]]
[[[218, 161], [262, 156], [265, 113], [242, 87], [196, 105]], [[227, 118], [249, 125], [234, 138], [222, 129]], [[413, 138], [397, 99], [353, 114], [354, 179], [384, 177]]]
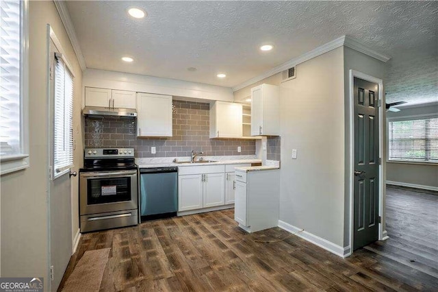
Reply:
[[222, 206], [225, 200], [225, 173], [204, 175], [204, 208]]

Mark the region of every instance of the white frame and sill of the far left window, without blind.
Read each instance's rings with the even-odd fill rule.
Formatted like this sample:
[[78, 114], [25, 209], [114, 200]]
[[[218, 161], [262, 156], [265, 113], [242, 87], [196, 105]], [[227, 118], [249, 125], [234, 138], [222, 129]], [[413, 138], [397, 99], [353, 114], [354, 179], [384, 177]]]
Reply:
[[29, 2], [21, 5], [20, 154], [0, 157], [0, 175], [29, 167]]

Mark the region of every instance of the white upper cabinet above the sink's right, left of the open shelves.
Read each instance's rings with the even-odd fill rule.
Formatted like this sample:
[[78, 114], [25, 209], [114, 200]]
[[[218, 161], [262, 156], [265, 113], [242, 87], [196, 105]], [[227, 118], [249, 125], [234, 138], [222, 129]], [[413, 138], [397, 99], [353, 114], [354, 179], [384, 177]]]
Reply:
[[210, 138], [242, 138], [242, 104], [215, 101], [210, 105]]

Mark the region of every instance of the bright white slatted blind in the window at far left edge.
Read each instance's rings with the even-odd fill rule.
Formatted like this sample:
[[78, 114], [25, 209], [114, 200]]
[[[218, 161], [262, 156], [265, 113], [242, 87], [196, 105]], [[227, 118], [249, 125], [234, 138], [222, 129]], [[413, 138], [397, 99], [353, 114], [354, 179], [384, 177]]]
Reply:
[[0, 1], [0, 156], [21, 154], [21, 1]]

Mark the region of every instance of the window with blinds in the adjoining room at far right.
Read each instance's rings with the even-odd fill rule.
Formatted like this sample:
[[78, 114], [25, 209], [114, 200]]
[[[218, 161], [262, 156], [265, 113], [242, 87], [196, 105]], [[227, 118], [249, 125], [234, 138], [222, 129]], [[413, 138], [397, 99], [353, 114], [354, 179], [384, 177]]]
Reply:
[[438, 117], [389, 121], [389, 160], [438, 162]]

